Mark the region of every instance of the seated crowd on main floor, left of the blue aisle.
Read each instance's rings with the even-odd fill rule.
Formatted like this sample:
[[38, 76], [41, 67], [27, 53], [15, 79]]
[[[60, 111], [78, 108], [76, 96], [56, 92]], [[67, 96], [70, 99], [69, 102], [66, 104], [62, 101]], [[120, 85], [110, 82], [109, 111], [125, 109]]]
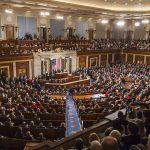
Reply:
[[[19, 138], [18, 134], [26, 140], [39, 140], [37, 134], [45, 140], [64, 138], [65, 100], [50, 98], [36, 79], [24, 76], [7, 80], [1, 74], [0, 99], [1, 138]], [[6, 129], [12, 132], [4, 132]], [[31, 135], [33, 138], [28, 137]]]

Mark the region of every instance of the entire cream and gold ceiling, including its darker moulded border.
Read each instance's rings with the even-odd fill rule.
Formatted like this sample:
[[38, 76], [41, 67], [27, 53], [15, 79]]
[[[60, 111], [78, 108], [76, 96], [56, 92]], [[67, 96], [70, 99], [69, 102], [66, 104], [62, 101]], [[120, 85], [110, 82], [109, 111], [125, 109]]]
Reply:
[[150, 0], [0, 0], [0, 9], [138, 19], [150, 18]]

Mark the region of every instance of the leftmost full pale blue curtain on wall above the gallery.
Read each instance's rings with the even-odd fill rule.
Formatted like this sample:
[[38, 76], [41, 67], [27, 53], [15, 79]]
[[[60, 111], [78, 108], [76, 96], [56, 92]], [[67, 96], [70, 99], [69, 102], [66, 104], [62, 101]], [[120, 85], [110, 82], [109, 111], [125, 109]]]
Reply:
[[19, 37], [22, 38], [26, 33], [32, 36], [36, 33], [37, 19], [34, 17], [18, 16]]

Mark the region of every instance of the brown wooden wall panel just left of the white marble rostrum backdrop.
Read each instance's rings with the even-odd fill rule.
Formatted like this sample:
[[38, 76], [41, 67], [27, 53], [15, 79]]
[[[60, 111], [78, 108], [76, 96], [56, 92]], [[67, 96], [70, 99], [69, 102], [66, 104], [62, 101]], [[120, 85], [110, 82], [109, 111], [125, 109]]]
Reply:
[[17, 76], [27, 75], [29, 77], [29, 62], [17, 62], [16, 63], [16, 73]]

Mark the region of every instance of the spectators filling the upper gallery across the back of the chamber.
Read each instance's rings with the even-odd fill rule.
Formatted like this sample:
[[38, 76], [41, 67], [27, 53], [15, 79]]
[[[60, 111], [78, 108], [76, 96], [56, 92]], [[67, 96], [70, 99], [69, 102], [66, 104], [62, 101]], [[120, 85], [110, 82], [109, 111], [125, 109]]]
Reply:
[[[26, 38], [25, 38], [26, 39]], [[28, 38], [27, 38], [28, 39]], [[18, 40], [18, 39], [17, 39]], [[94, 39], [86, 40], [75, 38], [75, 41], [69, 38], [51, 39], [47, 43], [39, 39], [28, 39], [0, 42], [0, 53], [8, 54], [32, 54], [34, 52], [45, 52], [51, 50], [149, 50], [149, 40], [115, 40], [115, 39]]]

